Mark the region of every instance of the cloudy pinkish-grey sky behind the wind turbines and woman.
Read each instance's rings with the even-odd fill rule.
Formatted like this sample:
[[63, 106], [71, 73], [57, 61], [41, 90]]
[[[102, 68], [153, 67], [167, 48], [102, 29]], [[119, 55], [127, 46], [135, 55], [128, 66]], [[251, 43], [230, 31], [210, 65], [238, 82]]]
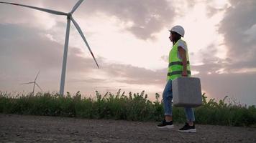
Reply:
[[[69, 12], [76, 0], [9, 0]], [[71, 23], [65, 92], [145, 92], [166, 84], [168, 31], [185, 29], [193, 77], [217, 100], [256, 104], [255, 0], [86, 0], [73, 14], [99, 63]], [[0, 91], [58, 92], [66, 17], [0, 4]], [[40, 92], [39, 89], [35, 89]]]

